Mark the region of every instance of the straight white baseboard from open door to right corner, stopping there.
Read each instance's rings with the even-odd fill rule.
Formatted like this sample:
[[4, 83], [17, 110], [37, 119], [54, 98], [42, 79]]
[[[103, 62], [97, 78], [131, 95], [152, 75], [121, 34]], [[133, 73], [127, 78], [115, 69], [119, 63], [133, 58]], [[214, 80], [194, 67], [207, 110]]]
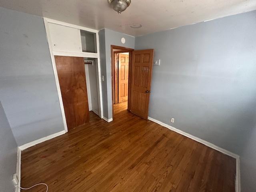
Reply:
[[154, 118], [148, 117], [148, 120], [153, 121], [153, 122], [155, 122], [155, 123], [157, 123], [157, 124], [160, 124], [160, 125], [162, 125], [162, 126], [168, 128], [168, 129], [170, 129], [170, 130], [172, 130], [172, 131], [175, 131], [175, 132], [177, 132], [177, 133], [179, 133], [179, 134], [182, 134], [182, 135], [184, 135], [184, 136], [186, 136], [186, 137], [188, 137], [188, 138], [190, 138], [190, 139], [192, 139], [192, 140], [195, 140], [195, 141], [197, 141], [197, 142], [199, 142], [199, 143], [202, 143], [202, 144], [204, 144], [204, 145], [206, 145], [206, 146], [208, 146], [208, 147], [210, 147], [210, 148], [213, 148], [213, 149], [215, 149], [215, 150], [217, 150], [217, 151], [219, 151], [219, 152], [222, 152], [222, 153], [224, 153], [224, 154], [226, 154], [226, 155], [228, 155], [228, 156], [230, 156], [230, 157], [233, 157], [233, 158], [235, 158], [235, 159], [239, 158], [239, 156], [238, 156], [237, 154], [234, 154], [234, 153], [232, 153], [232, 152], [230, 152], [230, 151], [228, 151], [228, 150], [226, 150], [226, 149], [220, 148], [220, 147], [218, 147], [218, 146], [216, 146], [216, 145], [214, 145], [214, 144], [212, 144], [212, 143], [210, 143], [210, 142], [208, 142], [208, 141], [205, 141], [205, 140], [202, 140], [202, 139], [200, 139], [200, 138], [198, 138], [198, 137], [195, 137], [195, 136], [193, 136], [193, 135], [190, 135], [190, 134], [188, 134], [188, 133], [186, 133], [186, 132], [184, 132], [184, 131], [182, 131], [182, 130], [179, 130], [179, 129], [177, 129], [177, 128], [174, 128], [174, 127], [172, 127], [172, 126], [170, 126], [170, 125], [168, 125], [168, 124], [165, 124], [165, 123], [163, 123], [163, 122], [160, 122], [160, 121], [158, 121], [158, 120], [156, 120], [156, 119], [154, 119]]

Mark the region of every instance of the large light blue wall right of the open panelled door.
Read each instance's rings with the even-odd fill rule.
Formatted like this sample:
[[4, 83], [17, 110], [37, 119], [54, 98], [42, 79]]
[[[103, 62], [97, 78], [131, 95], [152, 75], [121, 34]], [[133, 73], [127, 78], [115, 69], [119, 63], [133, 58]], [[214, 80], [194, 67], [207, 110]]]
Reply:
[[256, 12], [136, 37], [149, 48], [160, 59], [149, 116], [241, 155], [242, 189], [255, 191], [256, 153], [242, 153], [256, 148]]

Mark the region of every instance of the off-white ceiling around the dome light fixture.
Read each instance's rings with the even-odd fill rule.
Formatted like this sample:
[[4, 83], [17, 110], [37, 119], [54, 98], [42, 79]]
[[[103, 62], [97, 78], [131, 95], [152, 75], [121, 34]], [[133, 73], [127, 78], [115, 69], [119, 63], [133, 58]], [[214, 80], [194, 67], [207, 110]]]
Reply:
[[[118, 15], [108, 0], [0, 0], [0, 6], [132, 36], [256, 10], [256, 0], [132, 0]], [[131, 25], [142, 25], [131, 28]]]

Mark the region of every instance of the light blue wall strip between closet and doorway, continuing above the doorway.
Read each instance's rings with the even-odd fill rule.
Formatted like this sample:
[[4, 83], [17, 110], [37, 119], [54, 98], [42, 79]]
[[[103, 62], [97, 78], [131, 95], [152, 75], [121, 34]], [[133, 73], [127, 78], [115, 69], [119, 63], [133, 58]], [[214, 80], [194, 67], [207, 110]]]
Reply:
[[[122, 44], [121, 38], [126, 39]], [[115, 32], [109, 29], [102, 29], [99, 32], [100, 40], [100, 70], [104, 75], [102, 82], [103, 115], [112, 118], [112, 83], [111, 83], [111, 45], [134, 48], [135, 38], [126, 34]]]

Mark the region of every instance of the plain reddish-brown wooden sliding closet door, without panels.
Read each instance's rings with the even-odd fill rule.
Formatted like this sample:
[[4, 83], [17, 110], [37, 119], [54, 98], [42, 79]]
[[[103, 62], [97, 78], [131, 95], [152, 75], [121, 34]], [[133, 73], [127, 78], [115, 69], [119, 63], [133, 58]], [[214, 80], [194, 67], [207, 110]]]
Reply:
[[54, 56], [68, 130], [89, 122], [84, 58]]

